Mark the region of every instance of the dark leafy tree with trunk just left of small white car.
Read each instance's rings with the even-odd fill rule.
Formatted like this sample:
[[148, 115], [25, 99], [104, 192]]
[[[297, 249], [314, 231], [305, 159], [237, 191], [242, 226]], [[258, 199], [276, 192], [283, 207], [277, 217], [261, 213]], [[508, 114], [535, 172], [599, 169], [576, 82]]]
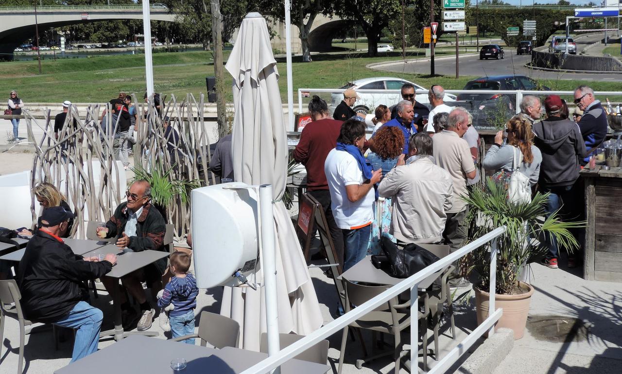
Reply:
[[402, 4], [399, 0], [336, 0], [335, 14], [343, 19], [358, 22], [367, 37], [368, 56], [378, 55], [378, 42], [383, 29], [392, 19], [401, 17]]

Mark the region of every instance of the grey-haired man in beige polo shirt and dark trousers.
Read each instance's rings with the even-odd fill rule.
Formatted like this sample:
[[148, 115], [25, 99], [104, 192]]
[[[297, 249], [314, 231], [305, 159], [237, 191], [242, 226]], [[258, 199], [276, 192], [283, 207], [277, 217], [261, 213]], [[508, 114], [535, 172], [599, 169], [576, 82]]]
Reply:
[[437, 165], [452, 176], [453, 206], [447, 211], [443, 241], [451, 251], [458, 250], [466, 238], [466, 203], [460, 197], [468, 195], [466, 180], [475, 177], [471, 150], [462, 136], [468, 129], [468, 113], [456, 108], [449, 113], [447, 129], [432, 138]]

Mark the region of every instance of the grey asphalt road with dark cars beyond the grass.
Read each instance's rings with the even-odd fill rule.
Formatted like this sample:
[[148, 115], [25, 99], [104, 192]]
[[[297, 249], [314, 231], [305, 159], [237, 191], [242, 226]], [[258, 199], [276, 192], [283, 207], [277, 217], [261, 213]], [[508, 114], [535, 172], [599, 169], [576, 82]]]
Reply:
[[[603, 35], [590, 35], [577, 40], [578, 52], [596, 40], [602, 39]], [[622, 82], [620, 74], [588, 74], [588, 73], [560, 73], [545, 72], [542, 70], [531, 70], [524, 67], [525, 63], [531, 61], [531, 55], [516, 55], [515, 50], [506, 49], [503, 60], [480, 60], [479, 55], [464, 55], [460, 57], [460, 75], [473, 75], [476, 77], [486, 77], [487, 75], [526, 75], [534, 79], [553, 79], [553, 80], [611, 80]], [[456, 59], [437, 58], [435, 61], [435, 73], [442, 75], [455, 75]], [[412, 62], [398, 62], [396, 65], [384, 66], [382, 70], [399, 73], [430, 73], [429, 60], [415, 60]]]

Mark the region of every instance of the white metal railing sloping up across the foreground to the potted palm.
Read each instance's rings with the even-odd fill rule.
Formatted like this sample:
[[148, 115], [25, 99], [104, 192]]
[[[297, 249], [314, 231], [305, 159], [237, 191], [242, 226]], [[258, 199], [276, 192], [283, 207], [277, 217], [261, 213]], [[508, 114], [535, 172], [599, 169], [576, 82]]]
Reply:
[[[277, 367], [280, 367], [283, 363], [309, 349], [326, 337], [340, 332], [344, 327], [346, 327], [346, 325], [349, 325], [355, 320], [360, 319], [364, 315], [376, 309], [376, 307], [381, 306], [381, 304], [388, 302], [394, 297], [397, 297], [399, 294], [406, 291], [407, 289], [411, 290], [411, 316], [417, 316], [419, 314], [419, 303], [417, 302], [417, 293], [419, 292], [419, 290], [417, 289], [417, 286], [420, 283], [425, 283], [425, 281], [427, 281], [430, 277], [437, 276], [440, 271], [450, 266], [454, 261], [457, 261], [463, 256], [468, 255], [468, 253], [471, 253], [471, 251], [474, 251], [480, 246], [485, 245], [486, 243], [488, 243], [488, 241], [492, 241], [490, 251], [490, 307], [488, 309], [488, 317], [483, 320], [483, 322], [481, 322], [481, 324], [475, 330], [468, 334], [467, 337], [462, 340], [462, 342], [460, 342], [455, 348], [450, 350], [450, 352], [448, 352], [445, 357], [443, 357], [437, 363], [437, 365], [435, 365], [434, 368], [432, 368], [428, 372], [430, 374], [444, 373], [445, 370], [450, 368], [453, 363], [455, 363], [458, 358], [460, 358], [460, 356], [462, 356], [463, 353], [465, 353], [466, 350], [468, 350], [468, 348], [471, 347], [471, 345], [473, 345], [475, 341], [479, 339], [483, 334], [488, 332], [489, 337], [493, 335], [494, 324], [499, 320], [501, 314], [503, 314], [502, 309], [495, 309], [494, 306], [497, 264], [496, 256], [498, 251], [496, 240], [494, 239], [497, 238], [499, 235], [503, 234], [505, 230], [506, 227], [502, 226], [494, 229], [493, 231], [490, 231], [490, 233], [487, 233], [486, 235], [481, 236], [481, 238], [478, 238], [477, 240], [474, 240], [471, 243], [463, 246], [462, 248], [460, 248], [460, 250], [453, 252], [451, 255], [443, 257], [439, 261], [431, 264], [430, 266], [427, 266], [427, 268], [418, 271], [409, 278], [404, 279], [400, 283], [397, 283], [395, 286], [392, 286], [378, 296], [375, 296], [372, 299], [364, 302], [360, 306], [355, 307], [350, 312], [343, 314], [343, 316], [338, 317], [337, 319], [333, 320], [322, 328], [315, 330], [314, 332], [298, 340], [294, 344], [283, 348], [276, 355], [272, 355], [265, 360], [256, 363], [255, 365], [253, 365], [253, 367], [244, 370], [244, 372], [242, 372], [241, 374], [265, 374]], [[412, 320], [415, 320], [415, 322], [411, 323], [411, 372], [417, 372], [416, 368], [417, 363], [419, 362], [419, 349], [417, 348], [419, 347], [419, 327], [416, 319]]]

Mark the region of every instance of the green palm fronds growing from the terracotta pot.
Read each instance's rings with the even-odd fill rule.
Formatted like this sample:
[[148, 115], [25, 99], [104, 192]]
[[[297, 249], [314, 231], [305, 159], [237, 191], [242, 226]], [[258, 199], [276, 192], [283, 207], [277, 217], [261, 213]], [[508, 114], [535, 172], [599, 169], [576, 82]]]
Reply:
[[[543, 243], [545, 233], [557, 240], [560, 249], [572, 251], [578, 248], [578, 243], [569, 229], [585, 225], [585, 222], [562, 222], [559, 212], [545, 219], [544, 207], [549, 194], [538, 192], [529, 203], [509, 203], [507, 196], [508, 190], [503, 184], [488, 178], [485, 185], [474, 188], [463, 197], [469, 208], [466, 216], [467, 241], [480, 238], [494, 228], [506, 227], [503, 235], [496, 238], [497, 294], [513, 292], [521, 268], [546, 253]], [[480, 275], [477, 286], [483, 290], [490, 288], [490, 248], [489, 242], [463, 257], [459, 263], [463, 275], [474, 271]]]

